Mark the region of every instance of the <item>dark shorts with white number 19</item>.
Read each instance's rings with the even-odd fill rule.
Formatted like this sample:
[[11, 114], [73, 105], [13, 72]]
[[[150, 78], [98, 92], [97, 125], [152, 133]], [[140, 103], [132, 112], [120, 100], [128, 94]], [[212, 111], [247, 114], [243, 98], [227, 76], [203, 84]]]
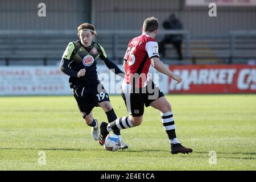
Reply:
[[90, 114], [94, 107], [98, 107], [98, 103], [109, 101], [109, 95], [100, 81], [93, 86], [73, 89], [73, 96], [83, 118]]

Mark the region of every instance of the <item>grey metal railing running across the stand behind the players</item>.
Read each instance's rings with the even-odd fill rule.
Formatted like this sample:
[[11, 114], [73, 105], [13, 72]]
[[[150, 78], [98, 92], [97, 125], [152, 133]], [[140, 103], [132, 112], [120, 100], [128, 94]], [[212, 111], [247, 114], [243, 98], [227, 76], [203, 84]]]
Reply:
[[[110, 49], [112, 49], [113, 56], [112, 59], [116, 60], [118, 56], [118, 48], [121, 45], [119, 43], [119, 40], [121, 40], [122, 37], [130, 37], [133, 38], [134, 36], [139, 36], [141, 35], [141, 31], [134, 31], [134, 30], [98, 30], [98, 35], [102, 35], [103, 37], [111, 37], [111, 42], [110, 42]], [[236, 50], [235, 45], [236, 45], [236, 37], [238, 36], [256, 36], [256, 30], [252, 31], [230, 31], [229, 32], [229, 55], [227, 56], [222, 56], [222, 57], [213, 57], [213, 56], [191, 56], [190, 55], [190, 47], [189, 43], [191, 42], [191, 33], [188, 30], [160, 30], [158, 32], [158, 35], [156, 35], [156, 38], [159, 38], [160, 36], [164, 36], [166, 34], [172, 34], [172, 35], [183, 35], [184, 36], [184, 44], [185, 44], [185, 59], [188, 61], [191, 61], [193, 64], [196, 64], [198, 60], [203, 60], [203, 59], [223, 59], [225, 60], [224, 63], [226, 63], [226, 60], [229, 60], [228, 63], [232, 64], [234, 60], [237, 59], [256, 59], [255, 56], [235, 56], [234, 52]], [[73, 30], [61, 30], [61, 31], [55, 31], [55, 30], [42, 30], [42, 31], [32, 31], [32, 30], [27, 30], [27, 31], [19, 31], [19, 30], [13, 30], [13, 31], [0, 31], [0, 39], [5, 41], [7, 37], [10, 38], [19, 38], [20, 36], [26, 37], [26, 36], [32, 36], [35, 38], [77, 38], [77, 31]], [[100, 38], [100, 37], [98, 37]], [[97, 41], [97, 36], [94, 38], [94, 40]], [[126, 40], [125, 40], [126, 41]], [[128, 42], [127, 42], [128, 43]], [[126, 43], [126, 45], [127, 45]], [[46, 45], [47, 46], [47, 45]], [[120, 48], [119, 48], [120, 49]], [[122, 48], [123, 49], [123, 48]], [[64, 50], [63, 50], [64, 51]], [[126, 51], [126, 50], [123, 50]], [[256, 49], [255, 49], [256, 51]], [[122, 55], [123, 56], [123, 55]], [[5, 65], [10, 65], [11, 60], [42, 60], [43, 65], [48, 65], [48, 61], [50, 59], [61, 59], [61, 57], [57, 57], [54, 55], [35, 55], [35, 56], [26, 56], [26, 55], [0, 55], [0, 59], [5, 60]], [[185, 62], [185, 61], [184, 61]]]

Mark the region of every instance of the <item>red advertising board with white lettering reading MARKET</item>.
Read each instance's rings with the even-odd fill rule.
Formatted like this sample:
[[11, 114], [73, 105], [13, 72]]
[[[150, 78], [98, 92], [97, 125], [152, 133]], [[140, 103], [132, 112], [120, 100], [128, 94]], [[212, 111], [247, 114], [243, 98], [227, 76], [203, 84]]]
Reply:
[[169, 93], [256, 93], [256, 65], [170, 65]]

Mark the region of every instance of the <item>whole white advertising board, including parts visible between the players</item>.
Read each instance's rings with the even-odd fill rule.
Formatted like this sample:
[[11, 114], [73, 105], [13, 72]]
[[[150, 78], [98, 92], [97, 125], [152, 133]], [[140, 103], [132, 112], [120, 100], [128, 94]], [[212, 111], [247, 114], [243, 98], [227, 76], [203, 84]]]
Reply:
[[[122, 65], [118, 65], [122, 68]], [[105, 65], [97, 65], [98, 78], [109, 94], [120, 94], [123, 79], [110, 72]], [[168, 77], [150, 71], [155, 84], [163, 93], [168, 93]], [[72, 95], [69, 88], [69, 76], [59, 70], [58, 66], [19, 66], [0, 67], [0, 96], [22, 95]]]

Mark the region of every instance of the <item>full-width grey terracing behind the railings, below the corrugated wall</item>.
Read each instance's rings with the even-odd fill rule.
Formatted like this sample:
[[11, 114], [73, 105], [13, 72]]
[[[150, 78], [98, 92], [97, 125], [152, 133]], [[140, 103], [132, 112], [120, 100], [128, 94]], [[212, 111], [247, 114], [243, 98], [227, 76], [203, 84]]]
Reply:
[[[118, 36], [117, 51], [114, 49], [113, 35], [99, 34], [98, 41], [108, 53], [108, 56], [121, 63], [127, 43], [133, 35]], [[77, 40], [76, 34], [0, 34], [1, 65], [56, 65], [68, 42]], [[240, 63], [256, 57], [256, 38], [236, 38], [234, 45], [234, 63]], [[183, 52], [185, 44], [183, 43]], [[174, 61], [175, 54], [171, 44], [167, 45], [167, 58], [164, 61]], [[225, 63], [230, 59], [229, 38], [197, 38], [190, 39], [189, 57], [187, 61], [200, 63]], [[31, 61], [33, 60], [33, 61]], [[186, 60], [185, 60], [186, 61]], [[56, 63], [57, 62], [57, 63]]]

